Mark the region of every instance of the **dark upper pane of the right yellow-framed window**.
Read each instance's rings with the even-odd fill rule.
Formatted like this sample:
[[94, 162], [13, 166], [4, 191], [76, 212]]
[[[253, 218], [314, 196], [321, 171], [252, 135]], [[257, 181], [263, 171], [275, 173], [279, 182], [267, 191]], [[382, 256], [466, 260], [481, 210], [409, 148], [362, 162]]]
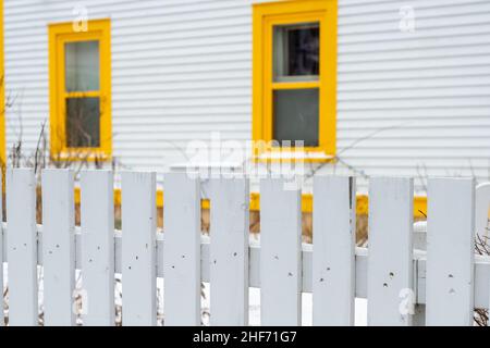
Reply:
[[274, 27], [274, 80], [316, 80], [320, 71], [318, 23]]

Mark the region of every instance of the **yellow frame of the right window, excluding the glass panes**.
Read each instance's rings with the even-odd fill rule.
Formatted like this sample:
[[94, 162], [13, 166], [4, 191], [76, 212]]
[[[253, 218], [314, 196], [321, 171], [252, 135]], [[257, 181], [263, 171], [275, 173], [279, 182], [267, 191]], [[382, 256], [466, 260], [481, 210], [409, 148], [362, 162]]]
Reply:
[[[320, 24], [318, 80], [273, 82], [273, 26], [311, 22]], [[254, 5], [253, 140], [256, 144], [254, 147], [256, 160], [324, 162], [334, 159], [336, 153], [336, 0], [295, 0]], [[270, 141], [273, 140], [273, 91], [306, 88], [319, 89], [319, 146], [272, 147]], [[301, 156], [297, 156], [298, 153]]]

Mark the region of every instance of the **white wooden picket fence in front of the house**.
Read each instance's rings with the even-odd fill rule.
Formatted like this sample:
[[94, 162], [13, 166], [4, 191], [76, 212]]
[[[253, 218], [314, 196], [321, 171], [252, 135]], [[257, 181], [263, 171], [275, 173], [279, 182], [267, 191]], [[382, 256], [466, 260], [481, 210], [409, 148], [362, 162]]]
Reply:
[[[75, 269], [85, 325], [114, 325], [114, 273], [122, 274], [123, 325], [156, 324], [163, 276], [166, 325], [200, 325], [201, 282], [210, 283], [211, 325], [248, 324], [249, 287], [260, 288], [262, 325], [299, 325], [302, 293], [313, 293], [315, 325], [352, 325], [355, 297], [367, 298], [370, 325], [471, 325], [474, 308], [489, 307], [490, 258], [474, 256], [473, 179], [429, 181], [425, 252], [414, 251], [411, 178], [370, 181], [366, 249], [355, 246], [355, 178], [315, 178], [313, 246], [302, 245], [301, 191], [262, 179], [260, 246], [249, 246], [247, 179], [211, 179], [211, 232], [204, 237], [199, 179], [180, 173], [164, 177], [164, 233], [156, 233], [156, 174], [122, 173], [122, 232], [114, 233], [112, 175], [81, 174], [75, 228], [71, 171], [42, 172], [42, 226], [33, 170], [7, 171], [0, 251], [10, 325], [38, 323], [38, 264], [46, 325], [75, 324]], [[411, 294], [415, 315], [406, 311]]]

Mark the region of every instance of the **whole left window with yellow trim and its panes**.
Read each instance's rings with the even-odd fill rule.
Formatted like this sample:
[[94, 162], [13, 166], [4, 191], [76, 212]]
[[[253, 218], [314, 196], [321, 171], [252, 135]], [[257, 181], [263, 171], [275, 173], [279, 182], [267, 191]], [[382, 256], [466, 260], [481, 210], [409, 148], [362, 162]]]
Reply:
[[110, 20], [49, 26], [51, 157], [108, 160], [112, 152]]

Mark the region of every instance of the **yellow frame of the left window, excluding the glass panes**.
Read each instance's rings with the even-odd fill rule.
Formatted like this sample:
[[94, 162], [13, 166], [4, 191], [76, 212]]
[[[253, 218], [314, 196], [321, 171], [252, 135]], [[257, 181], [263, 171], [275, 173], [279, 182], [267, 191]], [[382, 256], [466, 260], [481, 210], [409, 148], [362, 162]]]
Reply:
[[[111, 22], [88, 21], [86, 32], [75, 32], [73, 23], [49, 25], [50, 153], [53, 160], [108, 161], [112, 158], [111, 119]], [[65, 52], [68, 42], [99, 41], [99, 90], [66, 92]], [[100, 146], [66, 147], [66, 98], [100, 98]]]

